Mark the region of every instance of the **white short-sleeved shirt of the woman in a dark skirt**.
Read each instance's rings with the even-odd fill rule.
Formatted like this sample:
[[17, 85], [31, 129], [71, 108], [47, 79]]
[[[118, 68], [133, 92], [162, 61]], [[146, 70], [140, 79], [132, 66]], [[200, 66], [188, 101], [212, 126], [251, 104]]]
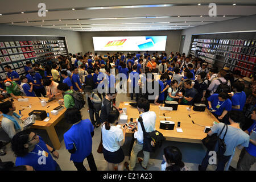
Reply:
[[118, 142], [121, 142], [122, 140], [122, 129], [116, 126], [110, 126], [110, 129], [106, 130], [105, 125], [102, 126], [102, 144], [106, 150], [110, 152], [118, 151], [120, 148]]

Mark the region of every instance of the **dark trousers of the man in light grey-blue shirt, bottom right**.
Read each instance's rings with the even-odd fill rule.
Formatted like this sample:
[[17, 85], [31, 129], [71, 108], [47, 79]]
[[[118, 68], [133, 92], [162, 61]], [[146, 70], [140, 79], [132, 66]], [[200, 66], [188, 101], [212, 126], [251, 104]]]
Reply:
[[[202, 163], [201, 163], [201, 167], [199, 168], [199, 171], [206, 171], [208, 164], [209, 164], [209, 158], [211, 156], [209, 155], [209, 150], [207, 151]], [[226, 156], [226, 155], [222, 155], [218, 158], [218, 164], [217, 164], [217, 169], [216, 171], [224, 171], [225, 165], [226, 163], [229, 161], [231, 155]]]

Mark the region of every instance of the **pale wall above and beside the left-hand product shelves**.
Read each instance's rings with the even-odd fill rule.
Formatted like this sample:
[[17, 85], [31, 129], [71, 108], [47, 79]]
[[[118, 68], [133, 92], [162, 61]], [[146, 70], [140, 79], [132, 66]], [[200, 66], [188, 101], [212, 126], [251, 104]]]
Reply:
[[65, 36], [68, 51], [82, 52], [81, 33], [68, 30], [55, 30], [51, 28], [25, 27], [14, 25], [0, 25], [0, 35], [55, 35]]

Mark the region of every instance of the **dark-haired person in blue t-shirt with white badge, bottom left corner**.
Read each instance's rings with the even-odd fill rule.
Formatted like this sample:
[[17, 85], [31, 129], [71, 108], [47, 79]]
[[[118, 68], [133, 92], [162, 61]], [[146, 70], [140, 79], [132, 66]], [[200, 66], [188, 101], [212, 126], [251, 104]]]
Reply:
[[15, 166], [28, 165], [35, 171], [61, 171], [59, 164], [52, 159], [52, 156], [59, 159], [59, 153], [30, 129], [16, 133], [11, 148], [16, 156]]

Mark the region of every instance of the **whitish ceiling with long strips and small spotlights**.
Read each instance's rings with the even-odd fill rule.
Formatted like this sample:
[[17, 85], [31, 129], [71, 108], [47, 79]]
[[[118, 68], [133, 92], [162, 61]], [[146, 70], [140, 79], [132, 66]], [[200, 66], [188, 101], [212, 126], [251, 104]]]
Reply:
[[[40, 2], [46, 3], [48, 10], [46, 17], [38, 16]], [[0, 24], [71, 31], [175, 30], [254, 15], [256, 12], [255, 0], [217, 1], [217, 17], [210, 17], [208, 5], [211, 2], [208, 0], [2, 0]], [[201, 5], [199, 6], [198, 3]], [[236, 6], [233, 6], [234, 3]]]

